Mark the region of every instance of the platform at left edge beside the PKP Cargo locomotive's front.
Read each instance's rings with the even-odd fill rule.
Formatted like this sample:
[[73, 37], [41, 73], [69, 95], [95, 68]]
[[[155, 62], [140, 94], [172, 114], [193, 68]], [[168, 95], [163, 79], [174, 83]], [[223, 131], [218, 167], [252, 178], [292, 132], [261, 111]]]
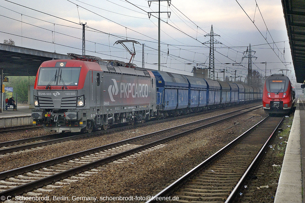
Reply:
[[31, 112], [32, 110], [28, 106], [17, 107], [16, 111], [13, 109], [3, 110], [0, 113], [0, 128], [32, 124]]

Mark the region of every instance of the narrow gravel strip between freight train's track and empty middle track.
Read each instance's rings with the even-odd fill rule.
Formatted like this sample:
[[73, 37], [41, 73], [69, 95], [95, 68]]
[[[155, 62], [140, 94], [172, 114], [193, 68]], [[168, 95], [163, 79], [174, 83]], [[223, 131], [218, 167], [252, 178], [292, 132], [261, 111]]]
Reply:
[[59, 156], [71, 154], [74, 152], [83, 151], [86, 149], [91, 149], [93, 147], [98, 147], [106, 145], [109, 143], [117, 142], [127, 138], [132, 138], [135, 136], [147, 134], [150, 132], [155, 132], [158, 130], [174, 127], [177, 125], [185, 124], [192, 121], [197, 121], [203, 118], [212, 117], [218, 114], [224, 114], [231, 112], [233, 110], [243, 109], [254, 104], [242, 105], [238, 107], [233, 107], [230, 109], [218, 110], [214, 112], [206, 112], [205, 114], [196, 115], [183, 119], [176, 119], [174, 121], [168, 121], [164, 123], [152, 124], [145, 127], [138, 127], [133, 130], [126, 130], [122, 132], [112, 133], [108, 135], [102, 135], [92, 138], [82, 138], [74, 140], [71, 142], [66, 142], [62, 144], [48, 145], [44, 149], [34, 150], [32, 152], [24, 152], [21, 154], [11, 155], [3, 157], [0, 159], [0, 172], [18, 168], [21, 166], [27, 166], [32, 163], [37, 163], [45, 161], [48, 159], [56, 158]]

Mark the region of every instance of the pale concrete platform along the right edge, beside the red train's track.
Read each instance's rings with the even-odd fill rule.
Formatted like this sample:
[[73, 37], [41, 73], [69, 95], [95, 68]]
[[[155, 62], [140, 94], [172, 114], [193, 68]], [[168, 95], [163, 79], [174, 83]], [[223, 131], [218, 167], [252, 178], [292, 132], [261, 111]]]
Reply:
[[[305, 99], [299, 99], [285, 151], [274, 203], [302, 203], [305, 181]], [[302, 192], [303, 189], [303, 192]]]

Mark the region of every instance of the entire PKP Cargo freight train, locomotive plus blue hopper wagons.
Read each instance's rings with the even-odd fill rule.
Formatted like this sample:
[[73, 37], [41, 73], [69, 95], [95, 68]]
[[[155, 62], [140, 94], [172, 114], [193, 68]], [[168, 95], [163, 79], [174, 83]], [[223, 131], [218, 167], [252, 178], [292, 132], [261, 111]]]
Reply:
[[91, 132], [119, 123], [188, 114], [260, 100], [261, 88], [68, 54], [45, 61], [34, 85], [33, 125], [45, 131]]

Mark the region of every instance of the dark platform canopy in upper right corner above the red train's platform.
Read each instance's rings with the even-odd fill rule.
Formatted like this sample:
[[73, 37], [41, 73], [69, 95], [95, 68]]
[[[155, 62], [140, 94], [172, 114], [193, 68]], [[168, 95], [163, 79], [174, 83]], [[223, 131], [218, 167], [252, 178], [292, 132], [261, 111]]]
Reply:
[[282, 0], [296, 82], [305, 80], [305, 1]]

